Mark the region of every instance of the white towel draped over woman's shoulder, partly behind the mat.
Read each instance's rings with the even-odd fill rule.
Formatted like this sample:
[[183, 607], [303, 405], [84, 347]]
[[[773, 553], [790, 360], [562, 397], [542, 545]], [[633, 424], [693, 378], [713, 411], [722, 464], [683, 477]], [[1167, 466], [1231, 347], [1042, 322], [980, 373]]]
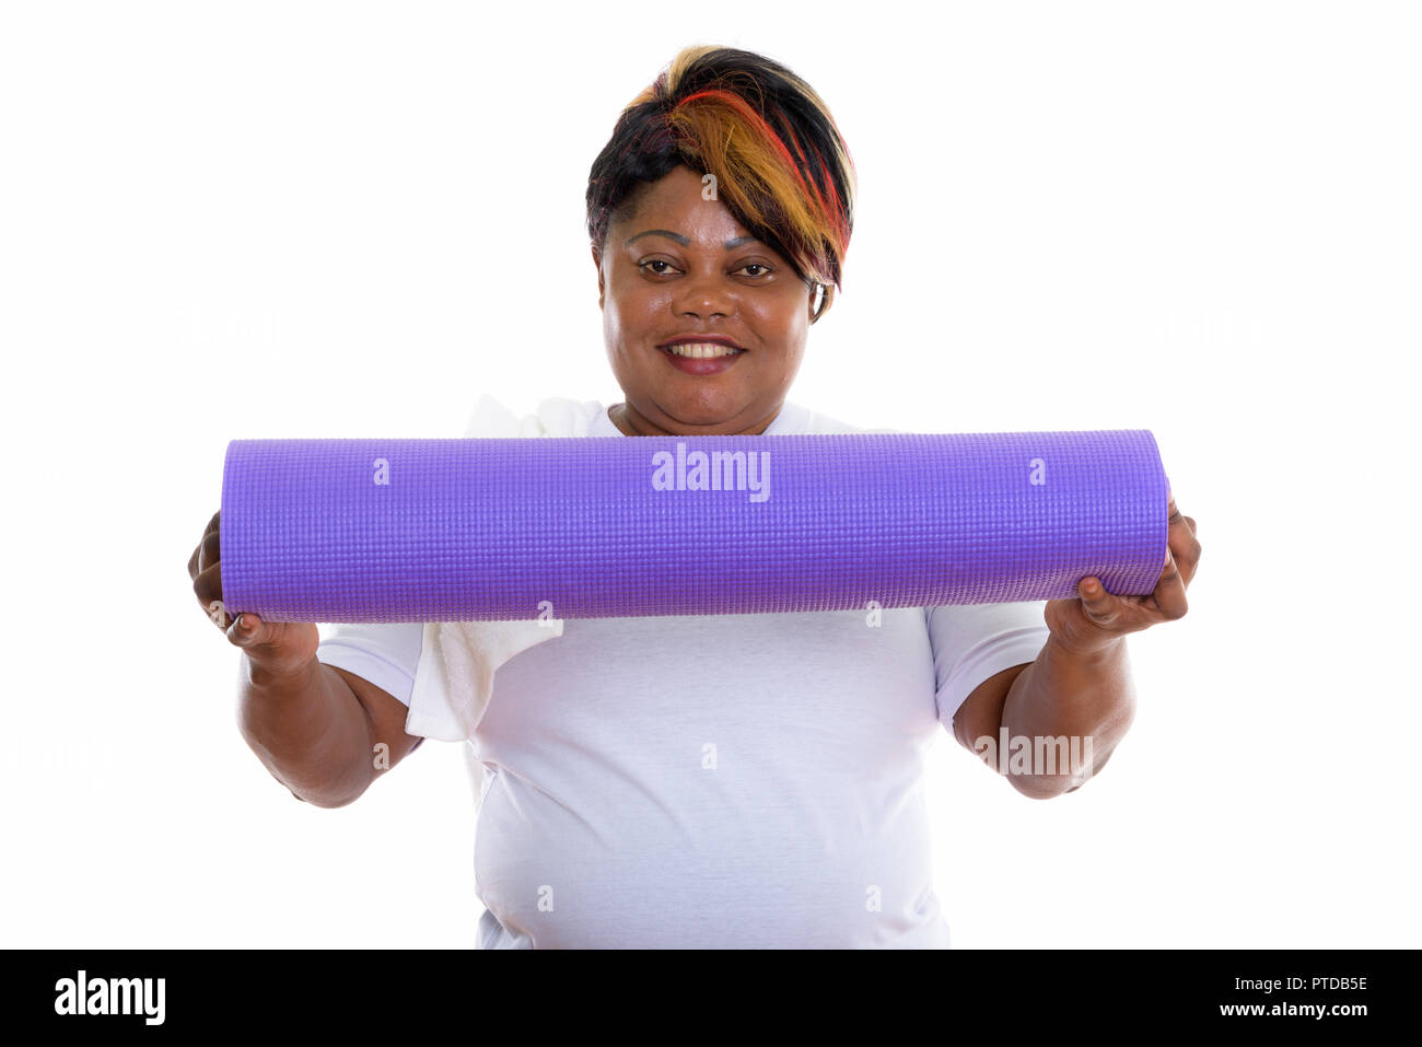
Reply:
[[[519, 418], [482, 395], [465, 437], [586, 437], [603, 405], [550, 398]], [[563, 634], [562, 620], [429, 622], [425, 625], [405, 730], [441, 741], [464, 741], [489, 706], [499, 666], [533, 644]]]

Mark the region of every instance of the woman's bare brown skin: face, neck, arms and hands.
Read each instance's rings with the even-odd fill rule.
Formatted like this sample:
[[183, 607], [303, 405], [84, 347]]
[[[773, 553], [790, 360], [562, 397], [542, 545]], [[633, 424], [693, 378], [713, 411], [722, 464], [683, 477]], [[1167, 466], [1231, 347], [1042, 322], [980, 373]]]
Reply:
[[[593, 249], [607, 360], [626, 395], [609, 417], [626, 435], [759, 435], [805, 357], [813, 285], [752, 239], [724, 203], [702, 199], [701, 189], [695, 171], [675, 168], [644, 189]], [[720, 374], [685, 374], [658, 349], [681, 336], [724, 336], [745, 353]], [[1076, 774], [1010, 774], [1024, 795], [1075, 791], [1129, 728], [1136, 696], [1125, 637], [1185, 616], [1200, 559], [1196, 524], [1180, 515], [1173, 495], [1166, 512], [1169, 552], [1150, 596], [1113, 596], [1099, 579], [1082, 579], [1078, 597], [1047, 602], [1051, 636], [1038, 657], [984, 680], [954, 716], [953, 733], [970, 751], [1001, 728], [1010, 737], [1094, 740], [1094, 762]], [[348, 804], [418, 744], [404, 731], [407, 708], [367, 680], [317, 661], [314, 625], [226, 615], [219, 526], [213, 516], [188, 573], [203, 613], [243, 650], [243, 737], [299, 799]]]

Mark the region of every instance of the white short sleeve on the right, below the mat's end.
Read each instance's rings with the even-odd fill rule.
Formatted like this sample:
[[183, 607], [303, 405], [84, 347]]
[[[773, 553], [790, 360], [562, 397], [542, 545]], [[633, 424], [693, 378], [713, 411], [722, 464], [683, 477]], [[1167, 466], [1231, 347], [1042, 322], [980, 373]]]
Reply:
[[924, 607], [937, 683], [939, 723], [953, 717], [968, 694], [1004, 669], [1035, 661], [1051, 636], [1047, 600]]

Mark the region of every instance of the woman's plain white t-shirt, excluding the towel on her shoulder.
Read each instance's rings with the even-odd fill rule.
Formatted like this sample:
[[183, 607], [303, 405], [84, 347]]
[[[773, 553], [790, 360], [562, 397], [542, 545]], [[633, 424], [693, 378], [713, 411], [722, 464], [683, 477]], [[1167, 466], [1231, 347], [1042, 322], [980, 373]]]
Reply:
[[[856, 431], [791, 403], [766, 428]], [[947, 947], [923, 758], [1037, 657], [1044, 606], [566, 620], [465, 743], [479, 947]], [[421, 625], [328, 629], [321, 661], [410, 704]]]

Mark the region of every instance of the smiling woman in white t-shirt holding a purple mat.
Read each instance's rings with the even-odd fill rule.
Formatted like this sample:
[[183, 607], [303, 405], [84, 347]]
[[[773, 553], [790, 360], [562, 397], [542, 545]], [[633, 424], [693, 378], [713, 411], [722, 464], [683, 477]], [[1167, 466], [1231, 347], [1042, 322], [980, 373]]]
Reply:
[[[545, 405], [565, 428], [523, 431], [852, 431], [786, 394], [840, 283], [853, 199], [806, 84], [745, 51], [683, 51], [623, 112], [587, 189], [626, 400]], [[1031, 797], [1098, 770], [1132, 718], [1123, 636], [1186, 610], [1200, 546], [1169, 514], [1150, 597], [1088, 578], [1079, 599], [1039, 603], [574, 620], [506, 657], [476, 720], [449, 726], [421, 708], [427, 627], [343, 626], [319, 644], [314, 625], [230, 622], [218, 518], [189, 573], [245, 653], [243, 734], [299, 798], [351, 802], [422, 737], [468, 740], [483, 947], [933, 947], [948, 933], [924, 748], [940, 728], [978, 753], [1000, 730], [1092, 740], [1086, 767], [1008, 771]]]

